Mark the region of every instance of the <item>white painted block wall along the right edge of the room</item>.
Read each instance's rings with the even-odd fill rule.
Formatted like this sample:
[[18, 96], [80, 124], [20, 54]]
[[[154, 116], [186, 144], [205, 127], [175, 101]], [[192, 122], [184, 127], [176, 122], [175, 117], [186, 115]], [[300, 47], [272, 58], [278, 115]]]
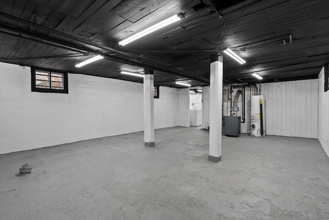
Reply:
[[329, 156], [329, 90], [324, 92], [324, 67], [319, 74], [319, 124], [318, 139]]

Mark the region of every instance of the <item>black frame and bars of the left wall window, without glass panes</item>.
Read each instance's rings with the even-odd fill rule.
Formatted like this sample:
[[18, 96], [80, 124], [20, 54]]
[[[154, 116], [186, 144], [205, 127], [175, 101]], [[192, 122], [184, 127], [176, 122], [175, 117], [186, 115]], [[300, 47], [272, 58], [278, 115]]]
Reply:
[[[50, 79], [51, 79], [51, 73], [53, 74], [63, 74], [63, 86], [64, 89], [53, 89], [53, 88], [37, 88], [35, 85], [35, 71], [40, 70], [40, 71], [46, 71], [50, 73]], [[51, 82], [51, 81], [49, 81]], [[47, 69], [47, 68], [41, 68], [41, 67], [31, 67], [31, 91], [36, 91], [38, 93], [64, 93], [68, 94], [68, 77], [67, 77], [67, 72], [61, 71], [61, 70], [56, 70], [56, 69]]]

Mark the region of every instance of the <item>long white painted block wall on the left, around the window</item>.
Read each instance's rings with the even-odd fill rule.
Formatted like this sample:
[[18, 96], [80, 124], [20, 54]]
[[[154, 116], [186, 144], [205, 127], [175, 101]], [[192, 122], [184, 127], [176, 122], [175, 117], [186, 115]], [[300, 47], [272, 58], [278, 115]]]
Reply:
[[[143, 84], [68, 75], [69, 94], [31, 92], [29, 67], [0, 62], [0, 154], [143, 131]], [[178, 91], [160, 87], [155, 128], [178, 126]]]

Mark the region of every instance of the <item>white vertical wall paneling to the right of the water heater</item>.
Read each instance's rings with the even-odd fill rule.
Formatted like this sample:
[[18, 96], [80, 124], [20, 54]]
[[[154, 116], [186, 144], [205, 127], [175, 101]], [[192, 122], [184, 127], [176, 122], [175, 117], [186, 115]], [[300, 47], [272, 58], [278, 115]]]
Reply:
[[317, 138], [318, 80], [261, 84], [268, 135]]

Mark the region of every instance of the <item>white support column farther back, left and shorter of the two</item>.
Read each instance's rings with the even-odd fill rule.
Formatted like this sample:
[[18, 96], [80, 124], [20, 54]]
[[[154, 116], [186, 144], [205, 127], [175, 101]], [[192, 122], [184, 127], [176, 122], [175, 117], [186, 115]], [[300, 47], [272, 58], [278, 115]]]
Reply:
[[144, 143], [154, 146], [154, 76], [153, 70], [144, 68]]

